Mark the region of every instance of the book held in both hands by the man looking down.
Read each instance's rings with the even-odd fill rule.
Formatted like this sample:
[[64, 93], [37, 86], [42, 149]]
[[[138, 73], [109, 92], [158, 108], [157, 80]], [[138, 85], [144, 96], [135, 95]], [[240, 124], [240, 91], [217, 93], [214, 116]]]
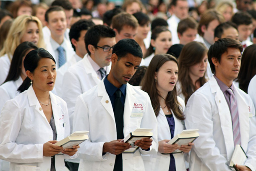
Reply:
[[137, 140], [141, 140], [143, 138], [151, 138], [153, 137], [153, 129], [146, 129], [146, 128], [138, 128], [135, 131], [128, 134], [121, 142], [127, 142], [131, 144], [131, 148], [125, 150], [123, 153], [135, 153], [138, 149], [137, 145], [134, 145], [134, 142]]

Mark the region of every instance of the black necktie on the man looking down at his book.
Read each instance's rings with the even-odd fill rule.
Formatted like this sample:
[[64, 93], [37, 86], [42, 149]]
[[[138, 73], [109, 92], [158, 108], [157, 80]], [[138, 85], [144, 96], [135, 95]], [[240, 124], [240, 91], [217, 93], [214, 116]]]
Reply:
[[[123, 104], [121, 101], [122, 92], [118, 89], [115, 92], [115, 106], [114, 106], [114, 115], [115, 115], [115, 127], [117, 133], [117, 139], [123, 139]], [[122, 154], [116, 155], [115, 157], [115, 166], [114, 171], [123, 170], [123, 158]]]

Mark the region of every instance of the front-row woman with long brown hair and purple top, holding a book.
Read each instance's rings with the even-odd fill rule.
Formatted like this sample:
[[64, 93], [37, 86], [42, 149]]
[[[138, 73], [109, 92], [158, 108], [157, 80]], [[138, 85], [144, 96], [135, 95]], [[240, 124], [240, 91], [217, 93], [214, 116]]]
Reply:
[[[157, 54], [153, 57], [142, 80], [142, 90], [149, 94], [158, 123], [158, 153], [144, 160], [145, 170], [186, 171], [184, 153], [188, 153], [189, 145], [170, 145], [175, 135], [185, 130], [184, 101], [177, 96], [175, 84], [178, 80], [178, 62], [170, 54]], [[175, 150], [184, 153], [172, 154]]]

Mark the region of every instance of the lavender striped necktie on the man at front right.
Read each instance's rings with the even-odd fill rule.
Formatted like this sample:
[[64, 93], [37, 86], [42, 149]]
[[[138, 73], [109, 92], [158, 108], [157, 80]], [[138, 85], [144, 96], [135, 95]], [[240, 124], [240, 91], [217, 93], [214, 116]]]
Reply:
[[231, 104], [230, 107], [231, 107], [231, 117], [232, 117], [232, 124], [233, 124], [234, 145], [237, 145], [237, 144], [241, 144], [238, 105], [237, 105], [235, 95], [231, 88], [227, 89], [227, 93], [230, 94], [230, 104]]

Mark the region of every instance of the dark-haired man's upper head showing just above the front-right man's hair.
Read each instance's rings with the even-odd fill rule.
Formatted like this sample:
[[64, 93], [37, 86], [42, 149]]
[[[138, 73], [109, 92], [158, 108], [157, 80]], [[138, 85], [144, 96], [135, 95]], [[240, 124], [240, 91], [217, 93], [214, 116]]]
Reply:
[[239, 34], [237, 26], [230, 21], [219, 24], [214, 30], [214, 41], [222, 38], [230, 38], [238, 41]]

